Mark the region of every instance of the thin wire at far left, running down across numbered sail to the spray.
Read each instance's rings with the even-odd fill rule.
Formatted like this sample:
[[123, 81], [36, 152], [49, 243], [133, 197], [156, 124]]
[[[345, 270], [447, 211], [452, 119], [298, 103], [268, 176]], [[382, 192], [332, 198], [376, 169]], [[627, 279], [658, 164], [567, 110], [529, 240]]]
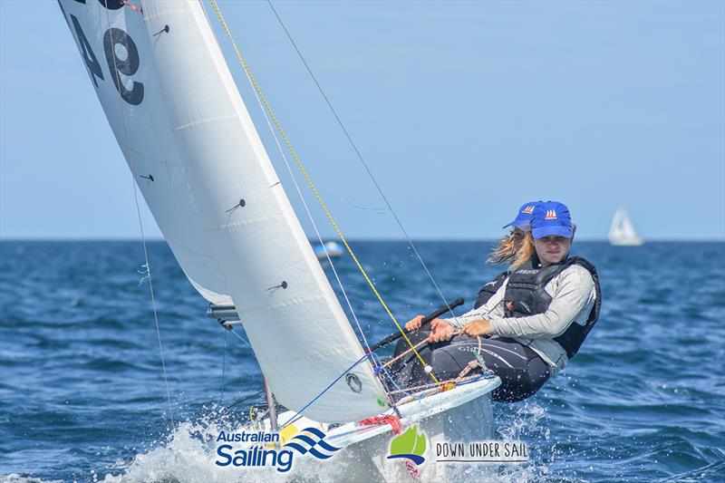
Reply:
[[[103, 10], [106, 11], [106, 24], [110, 28], [111, 27], [111, 17], [108, 12], [108, 9], [105, 7], [99, 6], [99, 5], [96, 5], [96, 7], [99, 9], [102, 8]], [[124, 12], [124, 15], [125, 15], [125, 12]], [[99, 16], [102, 16], [100, 13], [100, 10], [99, 10]], [[99, 22], [99, 24], [102, 23], [102, 19], [100, 19], [100, 20], [101, 20], [101, 22]], [[111, 40], [113, 40], [112, 36], [111, 36]], [[116, 55], [113, 55], [113, 69], [115, 72], [111, 72], [111, 75], [116, 75], [117, 76], [116, 81], [119, 82], [119, 84], [121, 84], [121, 82], [122, 82], [121, 76], [118, 73], [119, 72], [118, 65], [116, 64]], [[136, 216], [139, 218], [141, 245], [143, 246], [143, 256], [146, 261], [146, 269], [148, 271], [148, 273], [145, 274], [145, 276], [148, 276], [148, 280], [149, 280], [149, 292], [150, 292], [150, 296], [151, 296], [151, 309], [153, 311], [153, 320], [154, 320], [154, 323], [156, 324], [156, 338], [159, 341], [159, 353], [160, 353], [160, 358], [161, 358], [161, 369], [162, 369], [162, 372], [164, 375], [164, 387], [166, 389], [166, 400], [169, 404], [169, 420], [171, 420], [171, 426], [173, 427], [173, 426], [175, 426], [175, 423], [174, 423], [174, 411], [173, 411], [173, 407], [171, 405], [171, 392], [169, 391], [169, 375], [166, 371], [166, 361], [164, 360], [164, 348], [163, 348], [163, 344], [161, 343], [161, 330], [160, 330], [160, 325], [159, 325], [159, 314], [157, 313], [157, 310], [156, 310], [156, 297], [154, 296], [153, 282], [151, 280], [151, 266], [149, 264], [149, 249], [146, 246], [146, 236], [143, 231], [143, 221], [141, 220], [139, 192], [138, 192], [138, 188], [136, 186], [135, 161], [134, 161], [133, 151], [131, 150], [131, 138], [129, 136], [129, 130], [128, 130], [128, 126], [126, 124], [126, 115], [125, 115], [123, 99], [121, 98], [121, 95], [119, 95], [119, 111], [121, 111], [121, 124], [123, 125], [123, 138], [126, 141], [125, 142], [126, 152], [128, 153], [127, 159], [129, 159], [129, 167], [131, 168], [131, 183], [133, 184], [133, 200], [136, 203]]]

